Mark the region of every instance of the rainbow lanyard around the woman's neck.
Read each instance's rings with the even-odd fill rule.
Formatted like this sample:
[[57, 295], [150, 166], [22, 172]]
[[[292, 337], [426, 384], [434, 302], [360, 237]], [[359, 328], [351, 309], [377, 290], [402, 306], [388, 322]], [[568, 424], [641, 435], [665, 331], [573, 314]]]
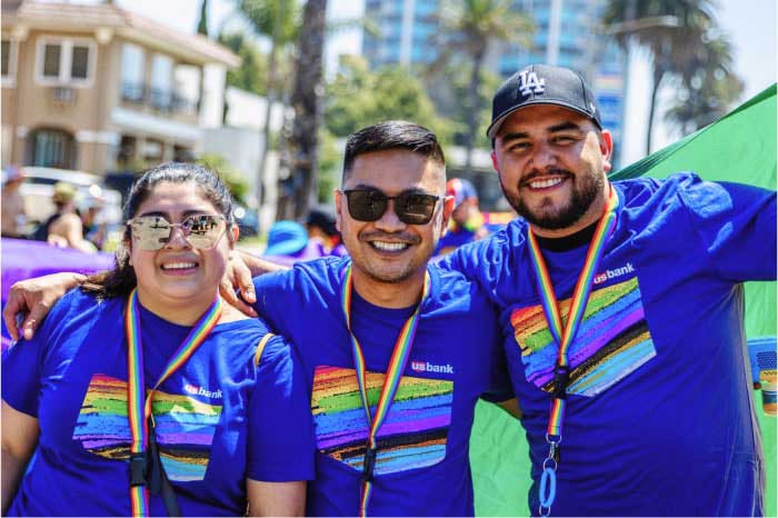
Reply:
[[[146, 399], [146, 380], [143, 376], [143, 350], [140, 342], [140, 312], [138, 302], [138, 289], [133, 289], [127, 299], [124, 309], [124, 332], [127, 333], [127, 415], [130, 420], [130, 499], [132, 501], [132, 516], [149, 515], [149, 489], [147, 486], [146, 445], [149, 441], [149, 417], [153, 427], [151, 414], [151, 400], [154, 390], [170, 377], [179, 367], [187, 362], [200, 343], [211, 332], [213, 326], [221, 316], [221, 299], [217, 296], [213, 303], [194, 323], [189, 336], [181, 342], [173, 356], [168, 361]], [[151, 434], [154, 434], [153, 429]], [[154, 439], [156, 440], [156, 439]]]

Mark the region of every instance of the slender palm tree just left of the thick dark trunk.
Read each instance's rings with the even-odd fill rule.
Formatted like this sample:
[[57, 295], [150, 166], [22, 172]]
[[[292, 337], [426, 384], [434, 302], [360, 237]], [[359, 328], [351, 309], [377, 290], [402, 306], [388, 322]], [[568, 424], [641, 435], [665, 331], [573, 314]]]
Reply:
[[[288, 0], [239, 0], [238, 10], [249, 21], [258, 36], [270, 40], [268, 53], [267, 107], [262, 122], [262, 142], [257, 171], [257, 186], [262, 186], [270, 151], [270, 116], [279, 98], [278, 61], [282, 51], [297, 39], [299, 8]], [[260, 200], [261, 201], [261, 200]]]

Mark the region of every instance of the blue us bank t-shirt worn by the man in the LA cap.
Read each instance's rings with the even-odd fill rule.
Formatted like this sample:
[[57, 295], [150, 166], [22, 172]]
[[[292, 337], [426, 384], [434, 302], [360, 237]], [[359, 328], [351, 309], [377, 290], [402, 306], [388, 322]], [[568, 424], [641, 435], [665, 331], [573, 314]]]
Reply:
[[[617, 226], [569, 350], [551, 514], [764, 514], [741, 282], [776, 278], [776, 195], [691, 173], [614, 187]], [[527, 228], [515, 220], [443, 266], [476, 279], [500, 308], [537, 514], [558, 347], [540, 306]], [[543, 250], [562, 318], [587, 250]]]

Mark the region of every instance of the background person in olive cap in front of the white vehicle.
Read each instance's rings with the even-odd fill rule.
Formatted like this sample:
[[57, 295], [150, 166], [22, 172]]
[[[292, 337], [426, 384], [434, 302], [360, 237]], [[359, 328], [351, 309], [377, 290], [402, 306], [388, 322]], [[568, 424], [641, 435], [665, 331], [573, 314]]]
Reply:
[[83, 238], [83, 225], [76, 211], [73, 198], [76, 188], [71, 183], [54, 183], [51, 200], [57, 210], [36, 233], [46, 231], [46, 241], [56, 247], [74, 248], [84, 252], [97, 251], [97, 247]]

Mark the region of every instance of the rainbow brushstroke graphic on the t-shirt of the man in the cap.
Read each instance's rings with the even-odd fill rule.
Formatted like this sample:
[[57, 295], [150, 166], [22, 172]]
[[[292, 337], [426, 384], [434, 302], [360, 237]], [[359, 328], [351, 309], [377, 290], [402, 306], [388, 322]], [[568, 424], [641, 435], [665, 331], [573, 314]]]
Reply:
[[[560, 300], [562, 319], [570, 299]], [[540, 305], [515, 310], [513, 337], [521, 348], [528, 381], [551, 391], [557, 345]], [[568, 394], [592, 397], [624, 379], [657, 355], [646, 323], [637, 277], [592, 290], [573, 342], [570, 345]]]

